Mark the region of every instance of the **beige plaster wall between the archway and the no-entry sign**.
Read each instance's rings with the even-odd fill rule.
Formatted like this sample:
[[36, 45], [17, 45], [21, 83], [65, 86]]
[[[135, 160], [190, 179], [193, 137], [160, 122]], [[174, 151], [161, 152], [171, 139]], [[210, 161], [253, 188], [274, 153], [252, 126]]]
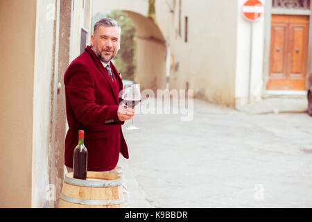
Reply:
[[[170, 87], [194, 89], [195, 96], [214, 103], [234, 105], [237, 1], [182, 1], [181, 35], [175, 4], [171, 28]], [[188, 17], [188, 41], [185, 22]]]

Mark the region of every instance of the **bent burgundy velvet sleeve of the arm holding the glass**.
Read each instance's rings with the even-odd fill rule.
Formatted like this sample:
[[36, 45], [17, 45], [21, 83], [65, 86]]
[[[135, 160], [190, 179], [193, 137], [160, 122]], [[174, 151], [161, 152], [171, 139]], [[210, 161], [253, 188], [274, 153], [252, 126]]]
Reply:
[[64, 76], [65, 94], [80, 123], [89, 125], [122, 124], [117, 116], [118, 105], [98, 105], [94, 79], [83, 65], [73, 66]]

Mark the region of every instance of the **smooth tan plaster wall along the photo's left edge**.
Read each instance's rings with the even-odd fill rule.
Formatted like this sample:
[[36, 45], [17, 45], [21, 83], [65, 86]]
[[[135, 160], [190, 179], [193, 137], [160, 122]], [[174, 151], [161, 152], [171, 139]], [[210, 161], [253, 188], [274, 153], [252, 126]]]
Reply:
[[0, 0], [0, 207], [31, 207], [36, 7]]

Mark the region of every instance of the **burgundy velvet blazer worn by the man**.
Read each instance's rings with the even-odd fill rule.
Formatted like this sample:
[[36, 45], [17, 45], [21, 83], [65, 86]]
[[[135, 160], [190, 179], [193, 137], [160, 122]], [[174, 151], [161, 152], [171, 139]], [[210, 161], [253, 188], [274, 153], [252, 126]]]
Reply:
[[123, 83], [110, 62], [114, 82], [101, 61], [87, 46], [64, 74], [67, 122], [64, 164], [73, 167], [73, 149], [78, 144], [78, 130], [85, 130], [87, 170], [110, 171], [116, 167], [119, 153], [129, 158], [121, 125], [117, 117], [119, 92]]

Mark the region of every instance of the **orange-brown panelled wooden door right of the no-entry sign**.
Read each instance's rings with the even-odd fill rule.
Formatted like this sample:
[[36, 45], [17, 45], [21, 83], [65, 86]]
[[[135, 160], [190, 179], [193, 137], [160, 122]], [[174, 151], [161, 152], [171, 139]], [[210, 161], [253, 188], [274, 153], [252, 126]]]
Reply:
[[272, 15], [267, 89], [305, 90], [309, 16]]

